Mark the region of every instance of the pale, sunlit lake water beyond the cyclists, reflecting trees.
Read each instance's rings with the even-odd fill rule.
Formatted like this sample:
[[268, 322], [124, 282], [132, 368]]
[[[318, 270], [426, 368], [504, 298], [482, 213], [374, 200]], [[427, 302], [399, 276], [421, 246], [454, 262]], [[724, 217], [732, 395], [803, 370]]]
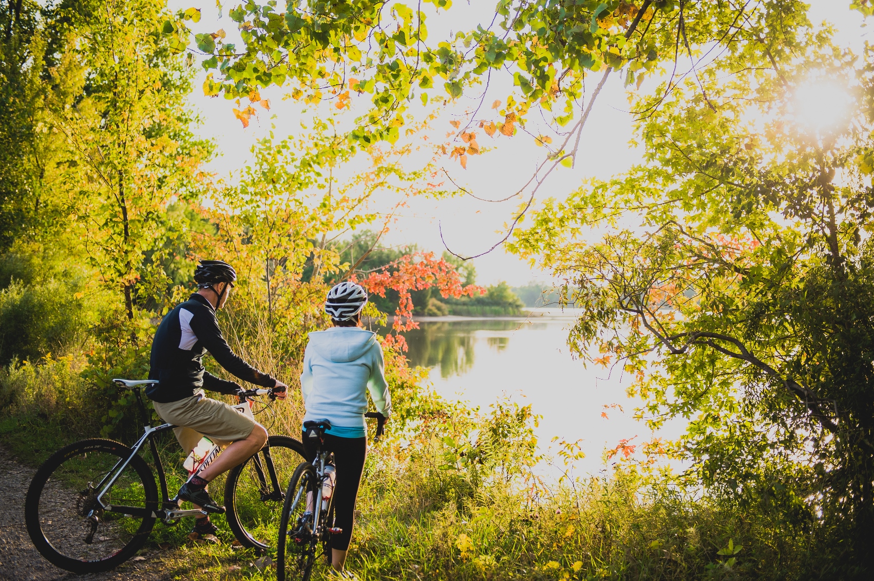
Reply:
[[[566, 341], [574, 320], [572, 309], [535, 309], [524, 318], [422, 318], [420, 329], [406, 332], [407, 357], [431, 369], [429, 378], [443, 397], [482, 408], [502, 397], [531, 404], [543, 416], [537, 429], [541, 448], [547, 449], [553, 436], [581, 440], [586, 458], [578, 462], [578, 474], [603, 469], [605, 448], [621, 439], [676, 437], [682, 422], [653, 434], [633, 419], [640, 400], [626, 395], [628, 374], [586, 368], [572, 358]], [[609, 407], [613, 404], [622, 411]]]

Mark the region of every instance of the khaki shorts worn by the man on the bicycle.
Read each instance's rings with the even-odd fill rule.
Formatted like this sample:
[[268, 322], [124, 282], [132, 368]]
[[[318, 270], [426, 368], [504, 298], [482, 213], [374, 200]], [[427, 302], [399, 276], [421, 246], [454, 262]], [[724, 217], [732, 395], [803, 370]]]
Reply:
[[225, 448], [232, 441], [246, 440], [258, 425], [226, 403], [205, 397], [203, 392], [184, 400], [152, 404], [162, 420], [177, 426], [173, 433], [185, 455], [191, 454], [203, 436]]

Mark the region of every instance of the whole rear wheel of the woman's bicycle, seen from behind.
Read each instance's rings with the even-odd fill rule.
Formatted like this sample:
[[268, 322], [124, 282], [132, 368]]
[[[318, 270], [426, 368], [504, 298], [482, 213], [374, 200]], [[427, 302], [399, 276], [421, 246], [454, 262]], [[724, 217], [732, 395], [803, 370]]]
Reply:
[[309, 462], [301, 462], [288, 483], [282, 505], [276, 543], [276, 581], [309, 581], [313, 573], [318, 539], [306, 523], [302, 523], [303, 513], [308, 509], [308, 494], [310, 502], [312, 499], [319, 502], [316, 468]]

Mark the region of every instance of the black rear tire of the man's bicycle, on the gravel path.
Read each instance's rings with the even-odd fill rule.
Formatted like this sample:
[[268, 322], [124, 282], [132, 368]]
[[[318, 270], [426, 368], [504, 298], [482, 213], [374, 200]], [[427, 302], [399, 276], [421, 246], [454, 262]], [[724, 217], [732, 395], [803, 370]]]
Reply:
[[[90, 460], [88, 455], [91, 455]], [[82, 558], [72, 557], [55, 546], [64, 545], [68, 552], [84, 554], [91, 551], [93, 543], [85, 541], [84, 538], [80, 543], [77, 539], [80, 538], [70, 533], [70, 530], [82, 530], [84, 517], [81, 516], [80, 502], [83, 498], [80, 490], [81, 482], [89, 475], [100, 476], [106, 474], [104, 466], [108, 463], [101, 463], [100, 455], [107, 455], [106, 461], [112, 461], [113, 457], [119, 459], [130, 458], [128, 467], [122, 471], [123, 480], [121, 484], [116, 482], [116, 486], [108, 491], [108, 496], [105, 496], [107, 504], [112, 503], [114, 490], [118, 489], [118, 494], [123, 495], [125, 502], [136, 502], [138, 508], [143, 509], [143, 513], [149, 516], [129, 516], [119, 513], [108, 512], [103, 516], [110, 517], [101, 520], [97, 526], [102, 527], [101, 536], [98, 537], [97, 549], [100, 549], [101, 544], [108, 546], [107, 550], [113, 550], [118, 543], [123, 543], [120, 550], [114, 551], [107, 557], [99, 558]], [[96, 456], [96, 458], [95, 458]], [[89, 468], [88, 464], [94, 468]], [[55, 476], [52, 479], [52, 476]], [[142, 483], [142, 492], [135, 488], [137, 479]], [[46, 483], [51, 481], [48, 489]], [[86, 489], [90, 489], [90, 482]], [[127, 489], [122, 488], [122, 485], [128, 486]], [[134, 488], [131, 488], [134, 487]], [[77, 503], [75, 510], [71, 512], [71, 504], [73, 500], [70, 492], [80, 490], [77, 493]], [[45, 514], [40, 515], [40, 500], [45, 496]], [[138, 496], [135, 499], [128, 496]], [[67, 502], [65, 502], [67, 501]], [[142, 507], [139, 505], [142, 504]], [[33, 541], [34, 546], [39, 553], [49, 560], [52, 564], [59, 566], [61, 569], [71, 571], [73, 573], [98, 573], [101, 571], [109, 571], [118, 565], [124, 563], [129, 558], [134, 557], [137, 550], [140, 550], [142, 545], [149, 538], [149, 533], [155, 526], [156, 514], [158, 508], [158, 492], [155, 484], [155, 475], [153, 475], [149, 465], [142, 459], [140, 455], [134, 455], [133, 450], [117, 441], [103, 440], [94, 438], [91, 440], [83, 440], [74, 442], [65, 448], [61, 448], [55, 452], [43, 465], [37, 470], [36, 475], [31, 480], [31, 485], [27, 489], [27, 496], [24, 500], [24, 523], [27, 527], [27, 532]], [[46, 524], [51, 524], [51, 527], [43, 529], [42, 520], [46, 516], [55, 515], [52, 518], [61, 519], [64, 516], [70, 516], [63, 523], [52, 523], [52, 520], [47, 520]], [[60, 516], [57, 516], [60, 515]], [[128, 527], [121, 522], [121, 518], [129, 518], [128, 523], [135, 525], [137, 520], [142, 518], [139, 526], [135, 531], [130, 532]], [[121, 524], [120, 524], [121, 523]], [[66, 525], [66, 526], [65, 526]], [[48, 535], [46, 534], [48, 533]], [[108, 534], [117, 537], [117, 543], [109, 544], [109, 541], [115, 540], [111, 537], [102, 537]], [[126, 540], [128, 539], [129, 540]], [[52, 543], [52, 540], [54, 543]], [[82, 546], [86, 545], [86, 546]]]

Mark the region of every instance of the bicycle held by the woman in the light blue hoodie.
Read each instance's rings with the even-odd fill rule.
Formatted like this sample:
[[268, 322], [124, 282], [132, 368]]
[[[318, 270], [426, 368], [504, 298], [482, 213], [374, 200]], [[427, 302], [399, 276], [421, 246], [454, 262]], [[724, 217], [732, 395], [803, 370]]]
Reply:
[[[374, 439], [378, 441], [385, 427], [385, 416], [378, 412], [364, 415], [378, 420]], [[333, 526], [334, 455], [322, 448], [330, 421], [305, 421], [303, 429], [304, 438], [316, 441], [316, 458], [301, 462], [288, 482], [276, 543], [276, 581], [309, 581], [318, 544], [322, 543], [323, 556], [330, 561], [330, 537], [343, 532]], [[314, 509], [314, 503], [318, 509]]]

